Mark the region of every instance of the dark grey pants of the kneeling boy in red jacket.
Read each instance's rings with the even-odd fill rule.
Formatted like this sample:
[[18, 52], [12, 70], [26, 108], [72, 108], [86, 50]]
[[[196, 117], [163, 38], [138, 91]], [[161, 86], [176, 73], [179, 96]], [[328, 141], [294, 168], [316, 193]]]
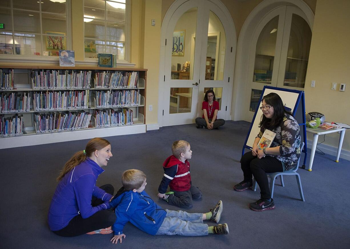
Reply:
[[174, 191], [170, 189], [170, 191], [174, 192], [173, 196], [169, 196], [168, 203], [170, 205], [175, 205], [178, 207], [186, 207], [190, 208], [193, 206], [192, 200], [199, 200], [202, 198], [202, 191], [196, 187], [191, 186], [191, 188], [188, 191]]

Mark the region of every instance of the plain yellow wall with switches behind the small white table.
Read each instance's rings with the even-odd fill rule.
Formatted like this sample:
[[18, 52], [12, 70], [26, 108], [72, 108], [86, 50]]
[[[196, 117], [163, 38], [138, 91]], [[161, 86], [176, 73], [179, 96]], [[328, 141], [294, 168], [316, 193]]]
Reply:
[[[306, 111], [318, 111], [329, 121], [350, 124], [350, 1], [317, 0], [305, 84]], [[315, 88], [310, 81], [315, 80]], [[336, 82], [337, 89], [331, 89]], [[345, 92], [339, 83], [346, 83]], [[309, 137], [308, 139], [311, 139]], [[337, 147], [339, 135], [327, 134], [324, 144]], [[343, 150], [350, 151], [350, 132], [345, 132]]]

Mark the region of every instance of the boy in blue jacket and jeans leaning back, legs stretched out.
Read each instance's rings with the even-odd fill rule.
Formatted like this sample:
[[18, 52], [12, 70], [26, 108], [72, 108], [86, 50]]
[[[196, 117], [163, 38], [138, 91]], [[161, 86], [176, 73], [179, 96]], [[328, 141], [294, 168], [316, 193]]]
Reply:
[[151, 235], [202, 236], [229, 234], [227, 223], [216, 226], [203, 224], [203, 220], [218, 223], [223, 210], [222, 201], [218, 201], [208, 213], [187, 213], [184, 211], [164, 210], [144, 191], [146, 175], [140, 170], [127, 170], [122, 177], [123, 191], [119, 191], [110, 202], [116, 207], [117, 220], [113, 224], [112, 243], [122, 242], [125, 238], [123, 228], [130, 221], [135, 227]]

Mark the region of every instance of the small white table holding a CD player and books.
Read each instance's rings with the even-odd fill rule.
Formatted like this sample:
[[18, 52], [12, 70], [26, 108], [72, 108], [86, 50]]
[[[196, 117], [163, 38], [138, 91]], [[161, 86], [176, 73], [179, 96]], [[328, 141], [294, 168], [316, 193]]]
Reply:
[[310, 155], [310, 163], [309, 163], [309, 169], [308, 171], [311, 171], [312, 164], [314, 162], [314, 157], [315, 157], [315, 151], [316, 151], [316, 146], [317, 146], [317, 140], [318, 136], [328, 134], [328, 133], [333, 133], [333, 132], [338, 132], [340, 131], [340, 137], [339, 137], [339, 144], [338, 144], [338, 153], [337, 153], [337, 159], [335, 160], [336, 162], [339, 162], [339, 156], [340, 152], [342, 150], [342, 145], [343, 145], [343, 140], [344, 140], [344, 135], [345, 135], [345, 128], [340, 128], [340, 129], [329, 129], [329, 130], [324, 130], [321, 128], [317, 129], [312, 129], [312, 128], [306, 128], [306, 132], [310, 132], [314, 134], [314, 138], [312, 140], [312, 147], [311, 147], [311, 155]]

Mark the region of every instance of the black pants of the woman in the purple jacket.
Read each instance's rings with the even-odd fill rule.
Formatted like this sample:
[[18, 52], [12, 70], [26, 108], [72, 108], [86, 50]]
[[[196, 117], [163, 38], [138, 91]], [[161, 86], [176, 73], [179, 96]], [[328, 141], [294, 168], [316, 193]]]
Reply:
[[[110, 184], [103, 185], [100, 188], [111, 195], [114, 194], [114, 188]], [[93, 196], [91, 205], [96, 207], [103, 202], [104, 201]], [[97, 229], [110, 227], [115, 221], [116, 214], [114, 214], [112, 210], [100, 210], [86, 219], [83, 219], [83, 217], [79, 214], [73, 217], [66, 227], [62, 228], [61, 230], [54, 231], [54, 233], [63, 237], [73, 237], [86, 234]]]

